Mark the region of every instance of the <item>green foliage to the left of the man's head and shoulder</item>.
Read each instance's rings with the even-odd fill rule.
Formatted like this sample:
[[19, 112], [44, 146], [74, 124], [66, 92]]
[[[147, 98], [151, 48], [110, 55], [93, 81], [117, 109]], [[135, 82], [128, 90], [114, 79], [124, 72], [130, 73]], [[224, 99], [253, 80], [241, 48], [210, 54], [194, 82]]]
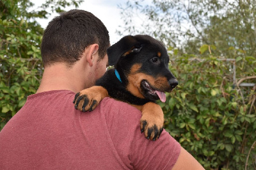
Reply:
[[40, 44], [44, 29], [36, 19], [47, 19], [83, 1], [47, 0], [31, 10], [29, 0], [0, 1], [0, 130], [36, 93], [44, 67]]

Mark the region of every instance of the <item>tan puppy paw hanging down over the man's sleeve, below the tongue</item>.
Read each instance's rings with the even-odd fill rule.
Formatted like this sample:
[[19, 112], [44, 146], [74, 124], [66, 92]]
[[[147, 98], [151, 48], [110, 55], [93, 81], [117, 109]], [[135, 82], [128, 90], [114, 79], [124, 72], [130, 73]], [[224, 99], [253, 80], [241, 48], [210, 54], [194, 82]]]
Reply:
[[141, 133], [144, 132], [147, 139], [156, 141], [163, 132], [164, 125], [164, 114], [160, 105], [148, 102], [141, 107], [141, 112]]

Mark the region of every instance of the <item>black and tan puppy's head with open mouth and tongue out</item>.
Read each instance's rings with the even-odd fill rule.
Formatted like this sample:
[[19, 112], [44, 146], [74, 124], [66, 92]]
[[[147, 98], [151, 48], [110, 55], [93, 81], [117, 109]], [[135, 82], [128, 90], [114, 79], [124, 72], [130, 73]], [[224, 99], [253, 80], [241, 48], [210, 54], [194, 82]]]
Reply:
[[165, 102], [164, 92], [178, 84], [168, 68], [167, 50], [151, 36], [125, 36], [107, 52], [109, 65], [115, 65], [126, 89], [136, 97]]

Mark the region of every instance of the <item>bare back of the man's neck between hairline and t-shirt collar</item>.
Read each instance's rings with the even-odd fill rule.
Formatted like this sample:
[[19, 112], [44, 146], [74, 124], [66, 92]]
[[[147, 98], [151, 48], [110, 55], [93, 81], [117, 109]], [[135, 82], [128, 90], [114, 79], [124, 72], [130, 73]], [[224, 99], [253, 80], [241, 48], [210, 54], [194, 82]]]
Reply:
[[68, 68], [63, 63], [47, 66], [44, 70], [42, 81], [36, 93], [44, 91], [67, 89], [75, 93], [86, 88], [76, 67]]

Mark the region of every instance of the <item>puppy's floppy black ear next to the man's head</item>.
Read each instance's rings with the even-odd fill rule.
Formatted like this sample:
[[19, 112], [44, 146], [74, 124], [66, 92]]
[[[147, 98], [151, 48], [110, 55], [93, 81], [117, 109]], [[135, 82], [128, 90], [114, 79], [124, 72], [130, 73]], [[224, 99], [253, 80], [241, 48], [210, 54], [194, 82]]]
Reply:
[[134, 36], [124, 36], [121, 40], [108, 48], [108, 65], [116, 65], [120, 57], [127, 56], [132, 52], [140, 52], [141, 43]]

